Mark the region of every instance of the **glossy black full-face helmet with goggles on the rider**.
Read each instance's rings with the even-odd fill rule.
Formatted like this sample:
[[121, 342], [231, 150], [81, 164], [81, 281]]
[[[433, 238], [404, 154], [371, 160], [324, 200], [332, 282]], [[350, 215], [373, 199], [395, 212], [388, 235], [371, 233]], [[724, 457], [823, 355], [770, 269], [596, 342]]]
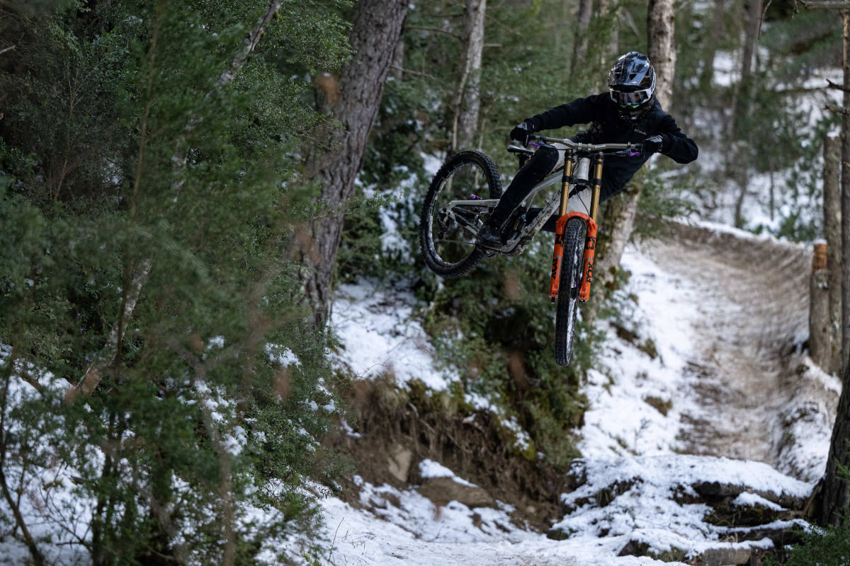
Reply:
[[608, 74], [611, 100], [622, 120], [638, 120], [655, 97], [655, 69], [649, 57], [637, 51], [621, 55]]

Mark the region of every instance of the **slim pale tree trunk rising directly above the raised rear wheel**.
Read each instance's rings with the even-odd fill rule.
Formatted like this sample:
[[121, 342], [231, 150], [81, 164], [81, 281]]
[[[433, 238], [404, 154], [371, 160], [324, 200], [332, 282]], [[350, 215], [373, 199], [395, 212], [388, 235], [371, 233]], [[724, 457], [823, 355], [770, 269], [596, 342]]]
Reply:
[[467, 0], [463, 14], [463, 78], [457, 92], [456, 126], [451, 153], [473, 147], [475, 132], [478, 130], [486, 10], [487, 0]]

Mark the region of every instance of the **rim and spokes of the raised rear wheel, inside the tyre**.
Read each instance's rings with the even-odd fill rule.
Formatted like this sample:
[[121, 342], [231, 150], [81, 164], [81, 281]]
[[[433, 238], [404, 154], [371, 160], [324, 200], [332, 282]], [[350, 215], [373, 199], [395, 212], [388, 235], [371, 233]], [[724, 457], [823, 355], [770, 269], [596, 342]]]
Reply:
[[439, 185], [428, 210], [428, 246], [433, 257], [444, 266], [454, 266], [475, 249], [479, 228], [486, 218], [486, 209], [453, 207], [453, 200], [471, 197], [490, 198], [490, 187], [484, 170], [475, 163], [462, 163], [446, 175]]

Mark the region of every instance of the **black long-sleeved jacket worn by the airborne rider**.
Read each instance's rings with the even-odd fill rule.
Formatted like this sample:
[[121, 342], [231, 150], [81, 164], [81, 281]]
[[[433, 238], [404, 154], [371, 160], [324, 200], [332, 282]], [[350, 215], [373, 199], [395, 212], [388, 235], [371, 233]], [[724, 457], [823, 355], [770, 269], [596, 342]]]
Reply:
[[[620, 119], [617, 106], [611, 100], [609, 92], [576, 98], [570, 103], [561, 104], [525, 121], [529, 122], [536, 132], [589, 122], [591, 126], [585, 132], [572, 137], [581, 143], [640, 143], [647, 137], [660, 135], [661, 153], [677, 163], [690, 163], [699, 153], [694, 140], [683, 134], [676, 125], [676, 120], [661, 109], [657, 100], [653, 100], [646, 114], [634, 121]], [[609, 199], [619, 193], [646, 160], [649, 160], [649, 155], [606, 158], [602, 199]]]

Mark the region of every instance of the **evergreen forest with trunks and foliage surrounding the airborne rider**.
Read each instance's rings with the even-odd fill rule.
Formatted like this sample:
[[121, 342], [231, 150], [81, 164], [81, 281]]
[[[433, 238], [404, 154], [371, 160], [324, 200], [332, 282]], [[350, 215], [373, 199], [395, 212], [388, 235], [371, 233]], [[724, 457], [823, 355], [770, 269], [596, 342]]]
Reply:
[[[837, 119], [812, 77], [842, 64], [840, 20], [793, 0], [671, 6], [666, 109], [700, 160], [657, 160], [606, 214], [639, 194], [638, 234], [698, 214], [819, 238]], [[652, 9], [0, 2], [0, 537], [52, 562], [20, 513], [35, 498], [63, 552], [96, 564], [326, 552], [316, 502], [357, 466], [320, 442], [357, 418], [326, 320], [333, 285], [360, 277], [412, 289], [461, 387], [501, 400], [564, 469], [599, 337], [586, 325], [574, 366], [555, 366], [546, 246], [442, 282], [418, 257], [418, 210], [456, 149], [492, 156], [507, 186], [507, 132], [603, 92], [616, 55], [647, 51]], [[534, 387], [505, 371], [518, 363]]]

